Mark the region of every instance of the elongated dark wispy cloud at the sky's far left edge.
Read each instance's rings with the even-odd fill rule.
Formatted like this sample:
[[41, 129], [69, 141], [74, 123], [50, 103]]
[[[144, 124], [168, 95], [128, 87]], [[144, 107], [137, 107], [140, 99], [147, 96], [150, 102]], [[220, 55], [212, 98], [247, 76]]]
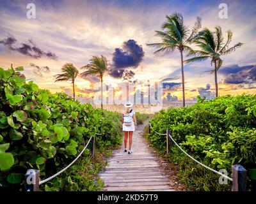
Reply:
[[15, 43], [17, 40], [13, 36], [8, 36], [0, 41], [0, 44], [3, 44], [4, 47], [8, 48], [8, 50], [12, 50], [15, 52], [19, 52], [22, 55], [26, 55], [29, 57], [33, 57], [35, 59], [41, 57], [49, 57], [51, 59], [57, 59], [56, 54], [52, 52], [44, 52], [39, 47], [35, 45], [32, 40], [28, 40], [28, 43], [20, 43], [20, 47], [15, 47]]

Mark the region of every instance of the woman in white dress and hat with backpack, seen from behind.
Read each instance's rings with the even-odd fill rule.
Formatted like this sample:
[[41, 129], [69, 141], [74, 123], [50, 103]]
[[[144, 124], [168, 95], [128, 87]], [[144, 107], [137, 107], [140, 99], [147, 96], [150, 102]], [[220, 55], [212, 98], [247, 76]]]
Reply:
[[132, 103], [127, 102], [124, 105], [125, 110], [122, 113], [122, 126], [124, 131], [124, 152], [127, 152], [127, 139], [129, 137], [129, 151], [128, 154], [132, 154], [132, 133], [137, 126], [135, 112], [132, 110]]

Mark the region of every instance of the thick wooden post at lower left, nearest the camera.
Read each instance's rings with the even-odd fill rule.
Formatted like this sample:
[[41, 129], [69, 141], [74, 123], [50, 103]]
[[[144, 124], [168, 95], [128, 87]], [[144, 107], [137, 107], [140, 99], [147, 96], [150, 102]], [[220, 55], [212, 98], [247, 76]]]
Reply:
[[39, 191], [39, 171], [28, 170], [24, 177], [25, 191]]

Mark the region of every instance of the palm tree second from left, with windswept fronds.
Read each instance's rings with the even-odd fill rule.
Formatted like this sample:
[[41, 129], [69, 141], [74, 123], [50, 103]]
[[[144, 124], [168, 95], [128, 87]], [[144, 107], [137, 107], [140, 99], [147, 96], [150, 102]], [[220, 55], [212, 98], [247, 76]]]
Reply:
[[102, 83], [103, 83], [103, 75], [104, 75], [105, 71], [107, 71], [107, 69], [108, 69], [108, 62], [107, 62], [106, 57], [104, 57], [103, 55], [93, 56], [92, 59], [90, 59], [90, 64], [87, 64], [86, 66], [83, 66], [81, 69], [87, 69], [86, 71], [81, 73], [82, 77], [86, 77], [88, 75], [97, 75], [97, 77], [100, 78], [100, 82], [101, 82], [101, 87], [100, 87], [101, 109], [103, 109]]

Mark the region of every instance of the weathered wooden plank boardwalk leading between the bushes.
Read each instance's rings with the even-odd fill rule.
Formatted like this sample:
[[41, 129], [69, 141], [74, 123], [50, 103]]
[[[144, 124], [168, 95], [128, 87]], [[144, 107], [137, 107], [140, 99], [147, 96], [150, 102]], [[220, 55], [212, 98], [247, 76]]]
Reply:
[[175, 191], [141, 136], [142, 128], [132, 136], [132, 154], [124, 152], [124, 144], [113, 150], [109, 165], [99, 174], [105, 182], [102, 191]]

